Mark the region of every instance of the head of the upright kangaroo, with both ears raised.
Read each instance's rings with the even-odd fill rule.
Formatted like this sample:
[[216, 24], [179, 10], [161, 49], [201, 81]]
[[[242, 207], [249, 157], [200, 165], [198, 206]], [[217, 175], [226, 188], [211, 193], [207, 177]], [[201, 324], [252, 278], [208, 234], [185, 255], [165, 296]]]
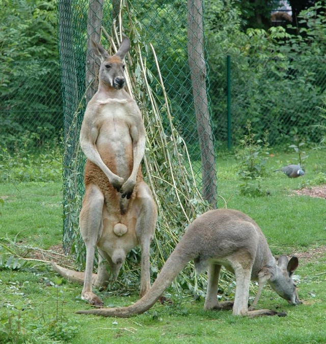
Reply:
[[122, 89], [126, 84], [123, 59], [130, 48], [129, 38], [123, 38], [119, 50], [113, 56], [110, 56], [100, 44], [93, 40], [92, 45], [95, 55], [101, 61], [99, 82], [116, 90]]

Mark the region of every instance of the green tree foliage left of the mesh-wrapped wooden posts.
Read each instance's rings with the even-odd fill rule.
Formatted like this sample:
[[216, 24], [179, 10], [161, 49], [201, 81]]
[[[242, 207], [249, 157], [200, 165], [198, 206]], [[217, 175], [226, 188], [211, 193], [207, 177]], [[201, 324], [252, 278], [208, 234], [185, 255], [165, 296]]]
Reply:
[[45, 127], [38, 135], [42, 141], [60, 127], [53, 121], [61, 98], [56, 1], [0, 0], [0, 5], [0, 137], [12, 147], [25, 131]]

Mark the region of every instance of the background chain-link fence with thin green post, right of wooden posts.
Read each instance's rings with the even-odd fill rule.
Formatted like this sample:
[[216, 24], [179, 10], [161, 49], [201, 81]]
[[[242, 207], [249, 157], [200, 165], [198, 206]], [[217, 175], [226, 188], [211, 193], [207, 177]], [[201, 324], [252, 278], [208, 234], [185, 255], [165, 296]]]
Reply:
[[[294, 141], [319, 144], [318, 128], [325, 100], [326, 69], [323, 56], [284, 59], [231, 58], [230, 103], [227, 103], [227, 62], [220, 75], [210, 75], [214, 137], [238, 146], [250, 120], [254, 133], [268, 131], [271, 147], [284, 149]], [[228, 105], [231, 122], [227, 121]]]

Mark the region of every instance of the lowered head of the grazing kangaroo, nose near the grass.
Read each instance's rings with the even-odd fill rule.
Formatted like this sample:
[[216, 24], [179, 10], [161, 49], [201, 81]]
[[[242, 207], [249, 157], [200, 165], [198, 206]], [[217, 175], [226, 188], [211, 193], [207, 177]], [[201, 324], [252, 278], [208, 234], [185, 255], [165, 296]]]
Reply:
[[269, 280], [271, 288], [293, 306], [301, 303], [297, 296], [296, 285], [292, 279], [293, 272], [297, 266], [297, 257], [293, 256], [288, 261], [286, 255], [281, 255], [276, 266], [276, 274]]

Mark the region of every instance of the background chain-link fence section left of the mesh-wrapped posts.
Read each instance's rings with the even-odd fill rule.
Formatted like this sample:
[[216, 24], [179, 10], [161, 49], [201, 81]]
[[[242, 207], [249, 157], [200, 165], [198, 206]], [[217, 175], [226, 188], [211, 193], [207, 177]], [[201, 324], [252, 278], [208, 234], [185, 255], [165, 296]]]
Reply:
[[[61, 78], [58, 62], [16, 61], [10, 87], [0, 96], [0, 140], [9, 150], [32, 148], [62, 134]], [[4, 80], [5, 81], [5, 80]]]

